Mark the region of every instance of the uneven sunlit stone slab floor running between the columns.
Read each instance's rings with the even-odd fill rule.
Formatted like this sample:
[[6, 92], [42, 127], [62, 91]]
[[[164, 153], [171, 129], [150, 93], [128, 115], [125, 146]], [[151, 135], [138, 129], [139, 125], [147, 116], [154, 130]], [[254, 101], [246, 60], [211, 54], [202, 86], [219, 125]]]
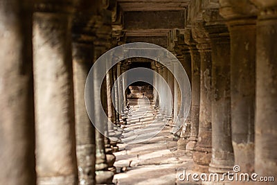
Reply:
[[[155, 118], [157, 120], [153, 121]], [[122, 139], [128, 143], [118, 144], [119, 151], [114, 153], [114, 166], [118, 172], [114, 175], [114, 184], [197, 184], [179, 182], [177, 179], [178, 172], [192, 169], [193, 161], [190, 153], [177, 150], [177, 141], [173, 141], [173, 135], [170, 133], [171, 123], [165, 121], [159, 119], [157, 111], [148, 99], [139, 99], [138, 105], [130, 106]], [[155, 134], [155, 131], [159, 131], [161, 126], [164, 126], [161, 132], [143, 141]], [[132, 141], [143, 142], [129, 143]]]

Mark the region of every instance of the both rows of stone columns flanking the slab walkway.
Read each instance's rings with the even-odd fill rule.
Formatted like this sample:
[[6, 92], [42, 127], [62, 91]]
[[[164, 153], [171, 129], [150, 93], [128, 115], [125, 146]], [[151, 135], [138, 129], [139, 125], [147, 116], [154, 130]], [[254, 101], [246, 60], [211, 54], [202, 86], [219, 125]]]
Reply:
[[[239, 165], [245, 173], [277, 177], [277, 1], [190, 4], [182, 41], [178, 37], [172, 51], [192, 89], [184, 122], [190, 127], [183, 129], [178, 148], [192, 152], [197, 171], [225, 173]], [[116, 46], [111, 6], [109, 1], [1, 1], [0, 184], [111, 184], [116, 142], [94, 129], [84, 103], [91, 65]], [[168, 82], [174, 101], [168, 107], [169, 92], [154, 76], [161, 92], [154, 92], [154, 103], [164, 120], [174, 122], [184, 111], [180, 85], [161, 64], [152, 66]], [[124, 70], [116, 64], [102, 83], [107, 94], [94, 94], [115, 125], [125, 118], [125, 81], [114, 85]], [[113, 85], [119, 112], [111, 104]], [[95, 115], [100, 106], [93, 105]], [[110, 136], [121, 134], [97, 116], [93, 122]]]

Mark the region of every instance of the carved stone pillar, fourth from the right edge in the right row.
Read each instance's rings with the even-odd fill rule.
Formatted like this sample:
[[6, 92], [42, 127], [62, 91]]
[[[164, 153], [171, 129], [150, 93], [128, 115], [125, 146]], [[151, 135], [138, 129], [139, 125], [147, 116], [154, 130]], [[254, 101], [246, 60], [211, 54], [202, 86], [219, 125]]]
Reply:
[[193, 153], [195, 170], [203, 173], [208, 172], [208, 164], [211, 162], [212, 149], [212, 125], [211, 125], [211, 42], [208, 33], [204, 30], [203, 21], [193, 23], [193, 38], [197, 41], [197, 49], [200, 53], [200, 114], [199, 114], [199, 134], [197, 146]]

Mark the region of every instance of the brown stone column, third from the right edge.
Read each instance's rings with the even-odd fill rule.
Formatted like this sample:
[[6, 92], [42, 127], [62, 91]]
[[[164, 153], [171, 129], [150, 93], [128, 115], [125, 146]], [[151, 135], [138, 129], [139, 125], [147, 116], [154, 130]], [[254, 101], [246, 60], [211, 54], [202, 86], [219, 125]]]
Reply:
[[231, 143], [230, 38], [218, 10], [205, 10], [205, 28], [212, 49], [212, 159], [209, 171], [226, 173], [233, 168]]

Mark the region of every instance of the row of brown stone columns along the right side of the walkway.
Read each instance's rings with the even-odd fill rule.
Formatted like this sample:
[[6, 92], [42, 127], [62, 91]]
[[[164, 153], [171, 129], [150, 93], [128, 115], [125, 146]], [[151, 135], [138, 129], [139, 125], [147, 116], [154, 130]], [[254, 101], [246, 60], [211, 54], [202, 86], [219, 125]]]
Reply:
[[[193, 153], [197, 171], [225, 173], [239, 165], [242, 173], [276, 176], [276, 5], [203, 4], [184, 30], [190, 60], [188, 50], [172, 50], [191, 65], [191, 131], [178, 148]], [[173, 121], [180, 111], [178, 88], [175, 80]]]

